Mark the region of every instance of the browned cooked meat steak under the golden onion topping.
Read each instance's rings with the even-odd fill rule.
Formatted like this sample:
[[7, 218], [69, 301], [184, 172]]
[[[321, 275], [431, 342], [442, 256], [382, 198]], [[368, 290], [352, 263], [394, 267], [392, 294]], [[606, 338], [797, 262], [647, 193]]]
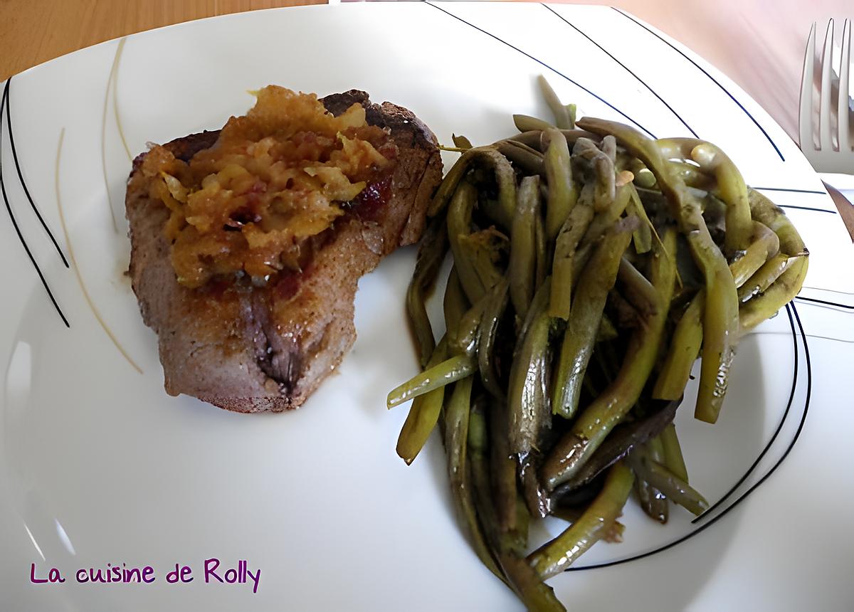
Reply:
[[[442, 178], [436, 137], [406, 108], [371, 103], [363, 91], [327, 96], [341, 114], [354, 103], [367, 122], [388, 127], [398, 147], [390, 184], [313, 241], [299, 274], [282, 272], [263, 287], [213, 281], [180, 285], [163, 228], [169, 211], [149, 197], [134, 161], [126, 195], [133, 290], [144, 322], [158, 335], [167, 393], [185, 393], [233, 411], [284, 411], [301, 405], [353, 346], [359, 278], [395, 248], [417, 242], [430, 195]], [[213, 146], [218, 131], [165, 145], [181, 160]], [[382, 197], [382, 196], [385, 197]], [[386, 199], [387, 198], [387, 199]], [[369, 206], [370, 205], [370, 206]]]

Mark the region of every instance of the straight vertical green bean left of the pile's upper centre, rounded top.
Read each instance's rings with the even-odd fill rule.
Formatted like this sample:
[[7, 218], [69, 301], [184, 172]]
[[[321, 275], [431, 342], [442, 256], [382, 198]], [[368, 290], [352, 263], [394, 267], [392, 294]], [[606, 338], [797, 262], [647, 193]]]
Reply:
[[524, 318], [534, 297], [536, 271], [536, 215], [539, 210], [540, 178], [525, 177], [518, 189], [510, 243], [510, 300], [517, 316]]

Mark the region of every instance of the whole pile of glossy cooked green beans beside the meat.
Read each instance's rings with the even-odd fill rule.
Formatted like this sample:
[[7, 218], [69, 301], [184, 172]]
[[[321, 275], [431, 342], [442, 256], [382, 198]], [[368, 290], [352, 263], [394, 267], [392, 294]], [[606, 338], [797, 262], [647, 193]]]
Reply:
[[[544, 85], [554, 124], [461, 155], [429, 209], [407, 311], [424, 370], [397, 452], [439, 425], [459, 520], [477, 556], [532, 610], [544, 580], [619, 540], [632, 491], [666, 522], [699, 515], [672, 420], [701, 358], [694, 416], [714, 423], [736, 343], [792, 300], [807, 251], [726, 154], [583, 118]], [[424, 302], [448, 251], [446, 331]], [[532, 517], [570, 522], [529, 552]]]

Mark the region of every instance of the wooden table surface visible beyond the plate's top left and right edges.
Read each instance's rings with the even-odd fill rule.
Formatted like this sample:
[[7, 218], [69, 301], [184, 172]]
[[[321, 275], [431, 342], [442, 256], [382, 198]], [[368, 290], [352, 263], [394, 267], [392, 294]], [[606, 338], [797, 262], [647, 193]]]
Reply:
[[[554, 1], [554, 0], [553, 0]], [[813, 20], [840, 20], [851, 0], [572, 0], [611, 4], [667, 32], [711, 61], [760, 102], [797, 141], [798, 90]], [[0, 81], [59, 55], [133, 32], [254, 9], [326, 0], [3, 0]], [[823, 25], [822, 25], [823, 27]], [[841, 29], [841, 28], [839, 28]], [[744, 61], [750, 56], [751, 61]], [[837, 201], [854, 239], [854, 207]]]

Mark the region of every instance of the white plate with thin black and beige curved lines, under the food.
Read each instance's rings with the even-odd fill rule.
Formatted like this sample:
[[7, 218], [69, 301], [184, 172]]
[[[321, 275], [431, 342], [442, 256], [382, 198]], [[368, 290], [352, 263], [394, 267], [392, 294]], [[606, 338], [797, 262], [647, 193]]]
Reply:
[[[512, 112], [547, 116], [539, 73], [585, 114], [628, 115], [656, 136], [693, 130], [722, 146], [749, 184], [789, 207], [811, 252], [804, 298], [854, 303], [851, 242], [786, 134], [705, 61], [617, 10], [271, 10], [61, 57], [6, 84], [3, 187], [20, 236], [0, 210], [0, 608], [518, 609], [460, 536], [438, 441], [412, 467], [395, 456], [406, 408], [386, 411], [384, 398], [417, 370], [402, 306], [412, 248], [361, 280], [359, 339], [300, 411], [245, 416], [171, 398], [122, 274], [130, 161], [119, 125], [137, 154], [149, 141], [219, 127], [249, 108], [247, 90], [278, 83], [321, 95], [364, 89], [411, 108], [443, 143], [452, 132], [488, 143], [512, 133]], [[681, 411], [692, 483], [712, 501], [774, 438], [712, 516], [797, 438], [744, 503], [693, 526], [674, 510], [667, 527], [631, 505], [625, 542], [597, 545], [581, 565], [709, 528], [640, 560], [561, 575], [551, 581], [559, 597], [572, 609], [849, 607], [851, 317], [851, 306], [796, 300], [742, 342], [716, 427]], [[242, 559], [260, 568], [257, 592], [251, 582], [206, 584], [213, 557], [220, 575]], [[67, 581], [32, 584], [31, 563], [37, 577], [55, 567]], [[75, 580], [79, 568], [107, 563], [150, 565], [155, 582]], [[176, 563], [192, 568], [192, 582], [167, 584]]]

